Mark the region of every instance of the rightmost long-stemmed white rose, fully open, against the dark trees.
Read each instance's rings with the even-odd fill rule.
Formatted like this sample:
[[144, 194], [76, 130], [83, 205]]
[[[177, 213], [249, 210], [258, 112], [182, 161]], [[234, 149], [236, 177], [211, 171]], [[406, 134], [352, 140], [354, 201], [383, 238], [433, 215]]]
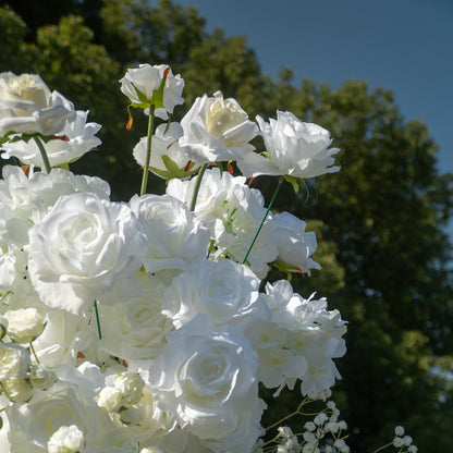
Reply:
[[332, 139], [329, 131], [313, 123], [303, 123], [291, 112], [277, 112], [277, 120], [266, 123], [256, 118], [265, 138], [268, 157], [247, 154], [237, 161], [237, 167], [247, 177], [260, 174], [294, 177], [315, 177], [323, 173], [334, 173], [340, 167], [332, 167], [332, 155], [338, 148], [329, 148]]

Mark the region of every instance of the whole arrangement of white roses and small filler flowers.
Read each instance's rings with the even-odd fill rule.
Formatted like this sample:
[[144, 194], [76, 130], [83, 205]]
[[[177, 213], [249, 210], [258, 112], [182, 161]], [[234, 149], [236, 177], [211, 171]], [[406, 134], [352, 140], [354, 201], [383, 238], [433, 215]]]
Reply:
[[[220, 91], [171, 122], [184, 81], [168, 65], [120, 83], [127, 128], [132, 108], [149, 119], [128, 203], [69, 170], [100, 144], [88, 112], [38, 75], [0, 74], [2, 157], [21, 163], [0, 180], [0, 452], [347, 452], [332, 401], [299, 433], [282, 425], [330, 396], [346, 322], [289, 280], [261, 287], [272, 266], [320, 268], [315, 234], [271, 206], [285, 181], [340, 170], [329, 132], [281, 111], [255, 123]], [[150, 172], [164, 195], [147, 194]], [[267, 208], [246, 184], [260, 174], [280, 176]], [[264, 428], [259, 384], [302, 403]], [[401, 427], [391, 444], [416, 452]]]

